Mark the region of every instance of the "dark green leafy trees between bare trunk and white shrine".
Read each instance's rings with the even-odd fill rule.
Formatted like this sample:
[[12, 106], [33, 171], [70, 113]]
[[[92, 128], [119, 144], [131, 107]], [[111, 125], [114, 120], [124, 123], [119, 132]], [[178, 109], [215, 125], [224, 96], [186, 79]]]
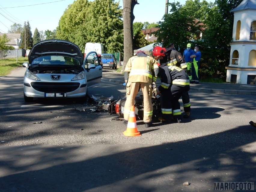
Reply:
[[[229, 63], [230, 42], [232, 41], [233, 13], [242, 0], [216, 0], [208, 3], [205, 0], [187, 0], [184, 6], [169, 3], [170, 14], [164, 15], [164, 21], [159, 22], [160, 30], [155, 32], [158, 43], [167, 46], [174, 43], [176, 50], [183, 53], [187, 43], [192, 48], [199, 45], [202, 53], [200, 60], [200, 78], [225, 80], [225, 66]], [[200, 22], [195, 22], [198, 19]], [[202, 39], [198, 38], [199, 27], [203, 28]], [[201, 80], [200, 80], [201, 81]]]

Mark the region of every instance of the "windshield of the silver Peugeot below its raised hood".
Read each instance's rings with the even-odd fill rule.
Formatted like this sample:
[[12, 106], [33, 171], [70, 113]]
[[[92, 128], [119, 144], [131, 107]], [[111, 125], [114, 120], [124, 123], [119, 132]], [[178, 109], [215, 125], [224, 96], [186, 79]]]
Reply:
[[69, 56], [41, 56], [34, 59], [32, 65], [73, 65], [79, 66], [80, 63], [77, 59]]

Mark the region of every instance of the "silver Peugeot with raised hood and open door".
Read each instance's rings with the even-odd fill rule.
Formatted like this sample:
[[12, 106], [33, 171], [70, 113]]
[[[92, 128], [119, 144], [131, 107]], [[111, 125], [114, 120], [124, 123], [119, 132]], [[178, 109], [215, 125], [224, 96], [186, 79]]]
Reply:
[[85, 98], [87, 88], [100, 83], [102, 66], [95, 51], [87, 56], [95, 56], [98, 62], [88, 61], [80, 48], [65, 40], [44, 40], [35, 44], [29, 52], [29, 62], [24, 75], [24, 99], [33, 98]]

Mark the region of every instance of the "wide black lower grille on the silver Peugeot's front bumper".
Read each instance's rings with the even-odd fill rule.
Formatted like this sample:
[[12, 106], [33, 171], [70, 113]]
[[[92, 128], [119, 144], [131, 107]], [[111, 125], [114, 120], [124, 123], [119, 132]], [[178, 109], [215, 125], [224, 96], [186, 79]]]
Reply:
[[44, 93], [68, 93], [75, 91], [80, 86], [80, 83], [43, 83], [31, 82], [31, 86], [40, 92]]

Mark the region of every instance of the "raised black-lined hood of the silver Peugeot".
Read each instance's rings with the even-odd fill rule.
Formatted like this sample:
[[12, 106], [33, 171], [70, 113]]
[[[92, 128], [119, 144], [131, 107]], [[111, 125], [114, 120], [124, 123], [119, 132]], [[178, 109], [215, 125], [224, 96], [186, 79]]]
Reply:
[[29, 63], [37, 57], [47, 55], [66, 55], [73, 57], [77, 59], [81, 65], [84, 60], [84, 55], [76, 44], [66, 40], [50, 39], [40, 41], [32, 47], [28, 55]]

